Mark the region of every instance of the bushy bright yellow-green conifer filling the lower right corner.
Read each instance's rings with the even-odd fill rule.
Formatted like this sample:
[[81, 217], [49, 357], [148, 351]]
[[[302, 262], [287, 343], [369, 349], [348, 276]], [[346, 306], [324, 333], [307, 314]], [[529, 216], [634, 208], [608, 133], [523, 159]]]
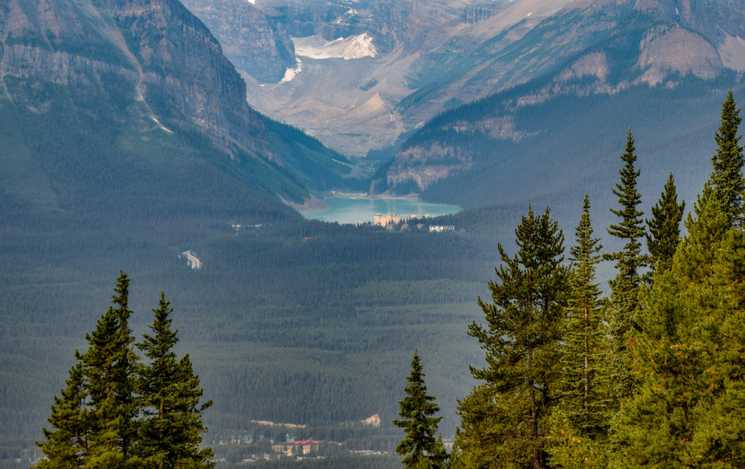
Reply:
[[708, 184], [670, 270], [642, 298], [638, 388], [612, 426], [615, 467], [743, 467], [745, 239]]

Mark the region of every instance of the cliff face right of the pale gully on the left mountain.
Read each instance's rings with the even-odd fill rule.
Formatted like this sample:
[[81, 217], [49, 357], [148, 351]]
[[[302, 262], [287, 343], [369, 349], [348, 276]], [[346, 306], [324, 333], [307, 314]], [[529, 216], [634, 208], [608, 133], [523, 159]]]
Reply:
[[[92, 0], [112, 16], [142, 69], [145, 98], [163, 94], [162, 120], [191, 121], [229, 150], [232, 143], [278, 160], [255, 111], [245, 103], [245, 85], [210, 31], [177, 0]], [[175, 110], [171, 110], [175, 107]]]

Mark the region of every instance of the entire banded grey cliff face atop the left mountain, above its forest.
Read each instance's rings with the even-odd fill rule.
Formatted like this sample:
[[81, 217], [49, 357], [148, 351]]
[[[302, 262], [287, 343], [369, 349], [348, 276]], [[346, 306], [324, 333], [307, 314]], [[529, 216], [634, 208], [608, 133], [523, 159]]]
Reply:
[[[0, 17], [0, 74], [34, 82], [100, 86], [106, 73], [128, 81], [144, 118], [200, 128], [273, 158], [245, 84], [220, 44], [176, 0], [13, 0]], [[168, 96], [168, 107], [151, 98]]]

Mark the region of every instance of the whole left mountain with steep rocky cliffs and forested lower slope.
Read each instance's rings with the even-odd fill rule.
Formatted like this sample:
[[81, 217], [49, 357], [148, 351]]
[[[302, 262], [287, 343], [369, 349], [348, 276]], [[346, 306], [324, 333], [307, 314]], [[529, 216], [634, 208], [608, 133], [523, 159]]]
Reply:
[[26, 150], [4, 145], [17, 169], [4, 174], [6, 188], [22, 189], [17, 177], [31, 171], [55, 200], [89, 202], [83, 192], [103, 197], [111, 187], [101, 174], [124, 169], [132, 187], [186, 176], [191, 183], [163, 194], [180, 193], [185, 205], [201, 204], [199, 194], [219, 204], [232, 187], [249, 207], [277, 195], [302, 203], [308, 187], [343, 185], [354, 170], [251, 109], [221, 45], [177, 0], [4, 0], [0, 31], [2, 110]]

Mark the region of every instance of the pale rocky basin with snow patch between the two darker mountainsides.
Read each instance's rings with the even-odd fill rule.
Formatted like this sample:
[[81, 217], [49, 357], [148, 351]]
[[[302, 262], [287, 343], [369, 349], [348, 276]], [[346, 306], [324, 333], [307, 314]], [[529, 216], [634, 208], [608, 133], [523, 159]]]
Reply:
[[[211, 3], [187, 1], [197, 15]], [[261, 55], [260, 49], [246, 47], [241, 57], [231, 57], [246, 78], [253, 107], [359, 156], [390, 145], [406, 130], [407, 122], [394, 107], [413, 91], [408, 75], [416, 57], [502, 3], [508, 1], [476, 8], [460, 0], [258, 0], [259, 10], [286, 25], [297, 63], [270, 84], [241, 66], [241, 60]], [[243, 34], [230, 27], [232, 15], [240, 11], [231, 8], [212, 28], [221, 31], [223, 46], [237, 43]], [[339, 51], [340, 42], [354, 50]]]

